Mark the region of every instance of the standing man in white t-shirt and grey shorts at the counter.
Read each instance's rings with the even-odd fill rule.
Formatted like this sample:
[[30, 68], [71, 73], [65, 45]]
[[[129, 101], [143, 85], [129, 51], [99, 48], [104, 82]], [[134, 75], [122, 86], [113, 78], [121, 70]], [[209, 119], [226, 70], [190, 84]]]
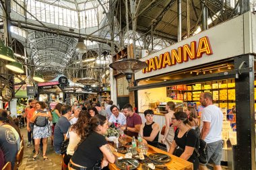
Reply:
[[[222, 120], [223, 114], [220, 108], [212, 102], [212, 94], [201, 93], [200, 103], [205, 106], [201, 114], [201, 139], [207, 143], [207, 163], [214, 163], [214, 169], [222, 169]], [[207, 164], [206, 163], [206, 164]], [[200, 164], [199, 169], [207, 169], [206, 164]]]

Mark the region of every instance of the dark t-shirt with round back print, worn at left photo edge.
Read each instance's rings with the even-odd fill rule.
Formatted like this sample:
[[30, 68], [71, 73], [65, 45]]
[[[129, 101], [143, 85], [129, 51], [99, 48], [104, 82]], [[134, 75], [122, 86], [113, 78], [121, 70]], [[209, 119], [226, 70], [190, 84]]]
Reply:
[[1, 126], [1, 124], [3, 124], [3, 122], [0, 121], [0, 148], [3, 152], [5, 163], [11, 162], [13, 169], [16, 154], [18, 153], [18, 144], [16, 143], [15, 134], [8, 128]]

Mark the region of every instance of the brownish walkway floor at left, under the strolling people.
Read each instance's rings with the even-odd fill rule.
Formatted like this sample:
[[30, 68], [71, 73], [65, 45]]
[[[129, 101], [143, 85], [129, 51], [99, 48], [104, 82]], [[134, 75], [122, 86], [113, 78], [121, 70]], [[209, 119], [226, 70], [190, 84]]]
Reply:
[[48, 148], [46, 155], [49, 157], [49, 161], [43, 161], [42, 159], [42, 152], [40, 152], [40, 155], [36, 161], [33, 161], [32, 157], [34, 153], [33, 151], [33, 145], [30, 147], [26, 147], [26, 144], [28, 143], [28, 134], [26, 128], [21, 129], [21, 133], [24, 136], [24, 157], [22, 161], [22, 165], [19, 167], [19, 170], [60, 170], [61, 169], [61, 156], [56, 155], [53, 151], [53, 146], [51, 145], [51, 139], [48, 140]]

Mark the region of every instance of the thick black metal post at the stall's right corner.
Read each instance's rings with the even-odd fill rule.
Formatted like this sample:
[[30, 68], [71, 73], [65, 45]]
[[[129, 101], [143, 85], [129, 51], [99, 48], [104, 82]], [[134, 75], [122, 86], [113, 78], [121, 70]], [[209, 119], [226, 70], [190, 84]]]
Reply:
[[[254, 68], [253, 55], [236, 56], [234, 68]], [[236, 90], [236, 137], [234, 146], [234, 170], [256, 169], [255, 167], [255, 110], [254, 69], [237, 74]], [[243, 156], [242, 156], [243, 155]]]

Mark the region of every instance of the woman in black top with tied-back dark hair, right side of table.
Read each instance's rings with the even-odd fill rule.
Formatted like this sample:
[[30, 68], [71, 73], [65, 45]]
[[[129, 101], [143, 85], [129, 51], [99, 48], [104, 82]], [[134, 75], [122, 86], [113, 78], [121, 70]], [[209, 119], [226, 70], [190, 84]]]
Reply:
[[[199, 148], [199, 136], [197, 132], [189, 126], [187, 114], [184, 112], [174, 113], [172, 116], [172, 124], [177, 126], [178, 129], [175, 132], [169, 153], [173, 154], [175, 149], [177, 149], [176, 153], [179, 151], [181, 155], [176, 155], [193, 163], [194, 170], [197, 170], [199, 167], [199, 159], [195, 152], [195, 149], [198, 151]], [[177, 148], [177, 146], [179, 146], [179, 148]]]

